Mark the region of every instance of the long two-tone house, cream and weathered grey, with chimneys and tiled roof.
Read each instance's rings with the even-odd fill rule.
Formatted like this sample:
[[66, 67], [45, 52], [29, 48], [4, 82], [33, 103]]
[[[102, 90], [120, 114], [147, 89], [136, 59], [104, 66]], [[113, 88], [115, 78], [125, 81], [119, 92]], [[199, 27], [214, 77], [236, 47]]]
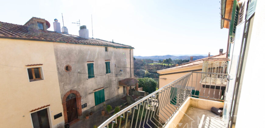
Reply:
[[[1, 91], [11, 96], [3, 101], [4, 105], [12, 106], [7, 111], [1, 105], [0, 110], [8, 115], [1, 121], [29, 127], [31, 118], [26, 112], [31, 113], [30, 110], [43, 106], [42, 109], [48, 108], [50, 126], [63, 121], [73, 123], [83, 118], [83, 111], [95, 112], [105, 103], [128, 93], [119, 81], [134, 76], [133, 47], [88, 38], [86, 26], [81, 26], [79, 36], [75, 36], [68, 34], [66, 27], [62, 27], [61, 32], [58, 20], [55, 19], [53, 25], [55, 31], [48, 31], [50, 23], [36, 17], [25, 25], [0, 22], [0, 42], [3, 46], [0, 67], [5, 71], [1, 73], [5, 85], [1, 86]], [[33, 67], [40, 67], [37, 70], [40, 78], [33, 73], [34, 82], [30, 82], [27, 68]], [[27, 79], [16, 80], [21, 77]], [[30, 86], [33, 84], [33, 87]], [[17, 93], [21, 91], [23, 93]], [[13, 102], [8, 102], [10, 100], [18, 101], [18, 104], [13, 105]], [[25, 109], [25, 112], [20, 109]], [[14, 110], [16, 112], [13, 113], [21, 117], [10, 114]], [[58, 113], [63, 117], [55, 119], [54, 115]], [[25, 117], [22, 118], [22, 115]]]

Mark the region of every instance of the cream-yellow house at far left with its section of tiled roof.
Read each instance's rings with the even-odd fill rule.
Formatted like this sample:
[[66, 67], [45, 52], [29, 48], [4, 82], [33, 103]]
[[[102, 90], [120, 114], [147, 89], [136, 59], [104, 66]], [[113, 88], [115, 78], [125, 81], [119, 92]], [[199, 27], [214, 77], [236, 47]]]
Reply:
[[[46, 20], [34, 20], [46, 30]], [[1, 128], [64, 123], [53, 43], [41, 41], [27, 25], [0, 22]]]

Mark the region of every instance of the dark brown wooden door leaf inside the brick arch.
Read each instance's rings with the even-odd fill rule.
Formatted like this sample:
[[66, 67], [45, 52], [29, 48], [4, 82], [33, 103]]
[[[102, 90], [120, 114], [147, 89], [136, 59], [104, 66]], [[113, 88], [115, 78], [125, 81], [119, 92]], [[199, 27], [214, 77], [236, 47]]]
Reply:
[[71, 121], [78, 118], [77, 107], [76, 107], [76, 98], [72, 98], [72, 99], [66, 101], [66, 110], [67, 110], [68, 122], [71, 122]]

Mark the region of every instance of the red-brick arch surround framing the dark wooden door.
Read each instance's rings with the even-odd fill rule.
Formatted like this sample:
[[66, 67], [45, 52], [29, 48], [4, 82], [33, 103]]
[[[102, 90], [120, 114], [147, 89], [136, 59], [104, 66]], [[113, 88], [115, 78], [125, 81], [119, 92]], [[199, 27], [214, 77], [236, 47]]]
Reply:
[[62, 98], [62, 108], [63, 108], [63, 115], [64, 115], [64, 121], [65, 123], [68, 122], [67, 119], [67, 109], [66, 109], [66, 98], [69, 94], [75, 94], [76, 95], [76, 106], [77, 106], [77, 115], [82, 116], [82, 106], [81, 106], [81, 95], [76, 90], [70, 90]]

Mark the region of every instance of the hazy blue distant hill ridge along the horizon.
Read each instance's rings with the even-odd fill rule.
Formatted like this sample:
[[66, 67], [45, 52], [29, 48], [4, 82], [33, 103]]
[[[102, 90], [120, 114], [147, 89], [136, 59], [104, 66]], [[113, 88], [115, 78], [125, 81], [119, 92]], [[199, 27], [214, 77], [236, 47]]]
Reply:
[[[202, 59], [208, 56], [203, 56], [203, 55], [192, 55], [193, 56], [193, 60], [197, 60], [197, 59]], [[152, 59], [152, 60], [163, 60], [163, 59], [188, 59], [190, 60], [190, 56], [188, 55], [184, 55], [184, 56], [175, 56], [175, 55], [154, 55], [154, 56], [133, 56], [134, 58], [137, 59]]]

